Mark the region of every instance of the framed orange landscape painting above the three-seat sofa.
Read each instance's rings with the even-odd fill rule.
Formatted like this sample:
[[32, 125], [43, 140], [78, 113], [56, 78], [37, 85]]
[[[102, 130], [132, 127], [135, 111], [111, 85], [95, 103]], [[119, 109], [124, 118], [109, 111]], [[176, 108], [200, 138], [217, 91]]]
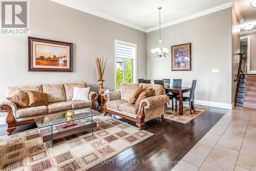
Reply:
[[29, 37], [29, 71], [72, 72], [73, 43]]

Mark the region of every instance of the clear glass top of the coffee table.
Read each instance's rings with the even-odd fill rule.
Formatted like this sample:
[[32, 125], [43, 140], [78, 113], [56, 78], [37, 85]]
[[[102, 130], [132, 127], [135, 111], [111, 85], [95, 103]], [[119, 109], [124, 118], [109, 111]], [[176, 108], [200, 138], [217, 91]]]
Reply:
[[67, 111], [59, 112], [57, 114], [51, 114], [44, 117], [35, 118], [35, 123], [38, 128], [49, 127], [57, 124], [66, 123], [68, 121], [83, 119], [87, 117], [92, 117], [96, 115], [100, 115], [102, 113], [93, 110], [91, 108], [81, 109], [81, 110], [73, 110], [73, 116], [67, 116]]

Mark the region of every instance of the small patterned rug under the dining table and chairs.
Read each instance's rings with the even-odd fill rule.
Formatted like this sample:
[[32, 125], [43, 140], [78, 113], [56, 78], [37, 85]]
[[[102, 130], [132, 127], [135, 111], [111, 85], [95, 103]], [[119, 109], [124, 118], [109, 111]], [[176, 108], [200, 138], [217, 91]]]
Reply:
[[194, 112], [194, 110], [192, 110], [192, 115], [191, 115], [189, 107], [188, 106], [183, 106], [183, 115], [179, 115], [179, 106], [177, 107], [177, 112], [175, 112], [175, 109], [172, 110], [172, 108], [167, 107], [167, 108], [165, 108], [164, 118], [174, 120], [174, 121], [178, 121], [179, 123], [186, 124], [190, 120], [196, 118], [200, 114], [209, 110], [208, 108], [203, 108], [203, 107], [198, 107], [198, 106], [195, 106], [195, 108], [196, 108], [196, 112]]

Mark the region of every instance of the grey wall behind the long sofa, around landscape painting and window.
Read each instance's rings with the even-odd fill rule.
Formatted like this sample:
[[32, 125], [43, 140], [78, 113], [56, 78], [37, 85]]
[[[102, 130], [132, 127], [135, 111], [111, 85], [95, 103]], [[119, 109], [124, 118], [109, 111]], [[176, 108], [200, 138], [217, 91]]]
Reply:
[[114, 40], [137, 44], [137, 75], [146, 77], [146, 33], [45, 0], [30, 1], [30, 36], [74, 43], [74, 72], [28, 72], [28, 37], [0, 36], [0, 99], [8, 86], [86, 81], [98, 88], [92, 51], [108, 57], [106, 89], [114, 90]]

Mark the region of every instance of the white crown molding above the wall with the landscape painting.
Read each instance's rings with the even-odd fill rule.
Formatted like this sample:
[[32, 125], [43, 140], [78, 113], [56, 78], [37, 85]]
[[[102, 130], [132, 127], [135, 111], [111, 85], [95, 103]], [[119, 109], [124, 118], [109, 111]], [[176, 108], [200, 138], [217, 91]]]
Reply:
[[61, 5], [64, 5], [64, 6], [67, 6], [67, 7], [71, 7], [71, 8], [77, 9], [79, 11], [83, 11], [83, 12], [86, 12], [86, 13], [89, 13], [89, 14], [92, 14], [92, 15], [96, 15], [96, 16], [104, 18], [104, 19], [108, 19], [110, 21], [114, 21], [114, 22], [120, 23], [121, 25], [124, 25], [124, 26], [127, 26], [127, 27], [131, 27], [133, 29], [136, 29], [136, 30], [139, 30], [139, 31], [142, 31], [142, 32], [146, 32], [145, 28], [142, 28], [140, 26], [134, 25], [132, 23], [123, 21], [121, 19], [109, 16], [109, 15], [106, 15], [106, 14], [103, 14], [103, 13], [100, 13], [100, 12], [91, 10], [89, 8], [84, 8], [84, 7], [79, 6], [79, 5], [77, 5], [77, 4], [73, 3], [73, 2], [70, 3], [69, 1], [66, 1], [66, 0], [51, 0], [51, 1], [55, 2], [55, 3], [58, 3], [58, 4], [61, 4]]

